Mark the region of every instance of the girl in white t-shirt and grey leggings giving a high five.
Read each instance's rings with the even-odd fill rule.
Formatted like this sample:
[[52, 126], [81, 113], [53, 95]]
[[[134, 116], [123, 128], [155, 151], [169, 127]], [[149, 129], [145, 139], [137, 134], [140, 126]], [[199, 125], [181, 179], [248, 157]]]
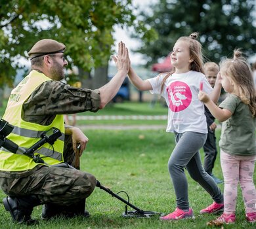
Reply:
[[[203, 169], [200, 148], [207, 138], [207, 123], [202, 101], [198, 99], [200, 85], [213, 101], [217, 102], [221, 84], [217, 79], [212, 89], [203, 74], [202, 46], [196, 41], [198, 33], [180, 37], [171, 52], [171, 73], [142, 80], [132, 67], [129, 79], [139, 90], [150, 90], [161, 94], [169, 107], [167, 132], [175, 133], [176, 146], [173, 150], [168, 169], [175, 188], [177, 208], [173, 213], [160, 217], [161, 220], [194, 218], [188, 202], [188, 183], [184, 168], [213, 198], [213, 204], [202, 209], [201, 214], [223, 211], [223, 194], [215, 181]], [[211, 93], [212, 90], [214, 93]]]

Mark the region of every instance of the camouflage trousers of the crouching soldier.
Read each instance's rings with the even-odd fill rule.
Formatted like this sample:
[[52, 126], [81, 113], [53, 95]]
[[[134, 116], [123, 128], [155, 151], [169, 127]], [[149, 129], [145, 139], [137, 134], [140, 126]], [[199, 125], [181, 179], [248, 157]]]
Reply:
[[[66, 139], [65, 139], [66, 142]], [[67, 149], [70, 149], [67, 147]], [[64, 153], [64, 161], [72, 165], [74, 151]], [[90, 173], [64, 167], [39, 165], [29, 171], [0, 171], [0, 186], [9, 196], [37, 195], [41, 203], [70, 205], [90, 196], [96, 179]]]

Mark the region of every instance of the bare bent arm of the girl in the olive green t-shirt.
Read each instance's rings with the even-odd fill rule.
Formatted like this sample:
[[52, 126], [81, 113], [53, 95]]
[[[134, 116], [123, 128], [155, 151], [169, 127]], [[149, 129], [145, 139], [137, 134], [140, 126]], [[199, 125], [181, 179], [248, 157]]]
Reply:
[[205, 106], [209, 109], [211, 112], [211, 115], [213, 115], [217, 120], [220, 122], [226, 121], [228, 118], [232, 116], [231, 111], [228, 109], [221, 109], [219, 108], [205, 92], [200, 91], [198, 94], [198, 98], [205, 103]]

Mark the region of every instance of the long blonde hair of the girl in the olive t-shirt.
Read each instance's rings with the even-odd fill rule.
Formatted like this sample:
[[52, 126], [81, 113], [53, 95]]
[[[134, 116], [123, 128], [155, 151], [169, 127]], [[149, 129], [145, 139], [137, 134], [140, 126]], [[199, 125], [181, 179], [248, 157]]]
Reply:
[[232, 59], [224, 59], [220, 63], [221, 71], [234, 84], [234, 92], [243, 103], [249, 106], [252, 116], [256, 114], [256, 92], [253, 83], [253, 73], [240, 49], [234, 50]]

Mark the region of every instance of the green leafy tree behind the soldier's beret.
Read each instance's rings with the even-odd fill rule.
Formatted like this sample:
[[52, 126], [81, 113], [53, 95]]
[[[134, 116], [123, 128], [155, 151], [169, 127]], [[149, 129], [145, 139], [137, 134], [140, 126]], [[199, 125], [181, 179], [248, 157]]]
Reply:
[[20, 58], [39, 39], [66, 44], [70, 67], [106, 66], [113, 26], [135, 21], [131, 0], [0, 0], [0, 18], [0, 86], [12, 84]]

